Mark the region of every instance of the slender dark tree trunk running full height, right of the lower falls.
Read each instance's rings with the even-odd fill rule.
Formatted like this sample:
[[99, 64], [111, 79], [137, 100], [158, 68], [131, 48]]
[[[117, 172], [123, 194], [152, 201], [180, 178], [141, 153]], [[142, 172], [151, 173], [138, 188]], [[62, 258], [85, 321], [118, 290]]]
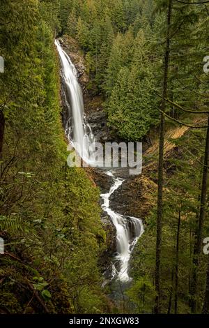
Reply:
[[169, 0], [167, 14], [167, 43], [164, 55], [164, 80], [163, 80], [163, 99], [160, 114], [160, 140], [159, 140], [159, 160], [158, 160], [158, 190], [157, 190], [157, 240], [156, 240], [156, 262], [155, 262], [155, 306], [154, 313], [160, 313], [160, 262], [161, 262], [161, 244], [162, 244], [162, 215], [163, 215], [163, 159], [164, 159], [164, 111], [166, 109], [167, 88], [168, 88], [168, 71], [170, 55], [170, 29], [171, 29], [171, 12], [172, 2]]

